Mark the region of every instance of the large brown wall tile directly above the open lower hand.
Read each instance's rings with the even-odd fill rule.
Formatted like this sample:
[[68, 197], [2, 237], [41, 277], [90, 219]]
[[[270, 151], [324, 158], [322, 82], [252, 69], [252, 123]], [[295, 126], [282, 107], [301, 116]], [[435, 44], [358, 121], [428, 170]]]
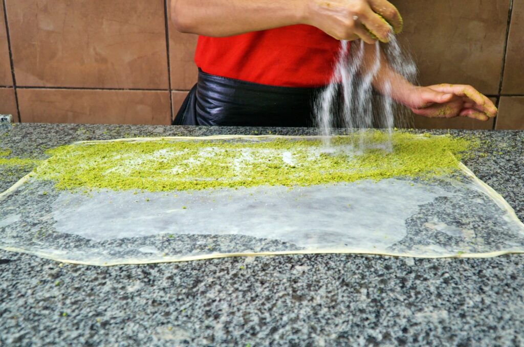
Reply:
[[394, 1], [423, 85], [471, 84], [497, 95], [510, 0]]

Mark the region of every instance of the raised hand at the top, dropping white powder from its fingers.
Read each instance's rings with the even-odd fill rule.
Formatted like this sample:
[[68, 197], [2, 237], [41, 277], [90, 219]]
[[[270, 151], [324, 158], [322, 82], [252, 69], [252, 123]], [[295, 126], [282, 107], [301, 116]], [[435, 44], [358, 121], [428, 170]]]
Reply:
[[315, 26], [337, 40], [362, 39], [388, 42], [402, 30], [402, 17], [387, 0], [306, 0], [305, 24]]

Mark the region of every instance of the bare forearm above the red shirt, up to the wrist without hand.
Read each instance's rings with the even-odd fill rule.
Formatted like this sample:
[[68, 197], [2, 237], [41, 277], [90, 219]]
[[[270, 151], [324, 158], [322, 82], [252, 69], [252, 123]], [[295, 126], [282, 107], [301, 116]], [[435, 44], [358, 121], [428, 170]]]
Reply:
[[307, 0], [172, 0], [181, 32], [224, 37], [301, 24]]

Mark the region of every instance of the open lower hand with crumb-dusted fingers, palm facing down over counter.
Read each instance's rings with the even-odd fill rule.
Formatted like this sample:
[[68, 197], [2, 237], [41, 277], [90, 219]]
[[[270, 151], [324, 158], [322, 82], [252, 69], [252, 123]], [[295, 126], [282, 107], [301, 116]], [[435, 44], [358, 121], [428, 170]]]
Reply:
[[413, 86], [406, 94], [406, 100], [400, 102], [408, 106], [413, 113], [424, 117], [469, 117], [487, 121], [497, 115], [497, 108], [493, 102], [472, 86]]

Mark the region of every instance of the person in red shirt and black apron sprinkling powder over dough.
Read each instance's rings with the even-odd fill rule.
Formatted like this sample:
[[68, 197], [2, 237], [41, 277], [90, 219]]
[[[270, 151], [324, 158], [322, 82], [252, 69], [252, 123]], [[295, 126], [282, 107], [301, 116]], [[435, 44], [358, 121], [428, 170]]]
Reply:
[[[386, 0], [172, 0], [174, 27], [199, 34], [198, 82], [173, 124], [311, 126], [312, 99], [329, 84], [340, 40], [374, 43], [402, 29]], [[385, 59], [374, 88], [425, 117], [495, 117], [493, 102], [469, 85], [416, 86]], [[388, 85], [387, 90], [384, 86]]]

